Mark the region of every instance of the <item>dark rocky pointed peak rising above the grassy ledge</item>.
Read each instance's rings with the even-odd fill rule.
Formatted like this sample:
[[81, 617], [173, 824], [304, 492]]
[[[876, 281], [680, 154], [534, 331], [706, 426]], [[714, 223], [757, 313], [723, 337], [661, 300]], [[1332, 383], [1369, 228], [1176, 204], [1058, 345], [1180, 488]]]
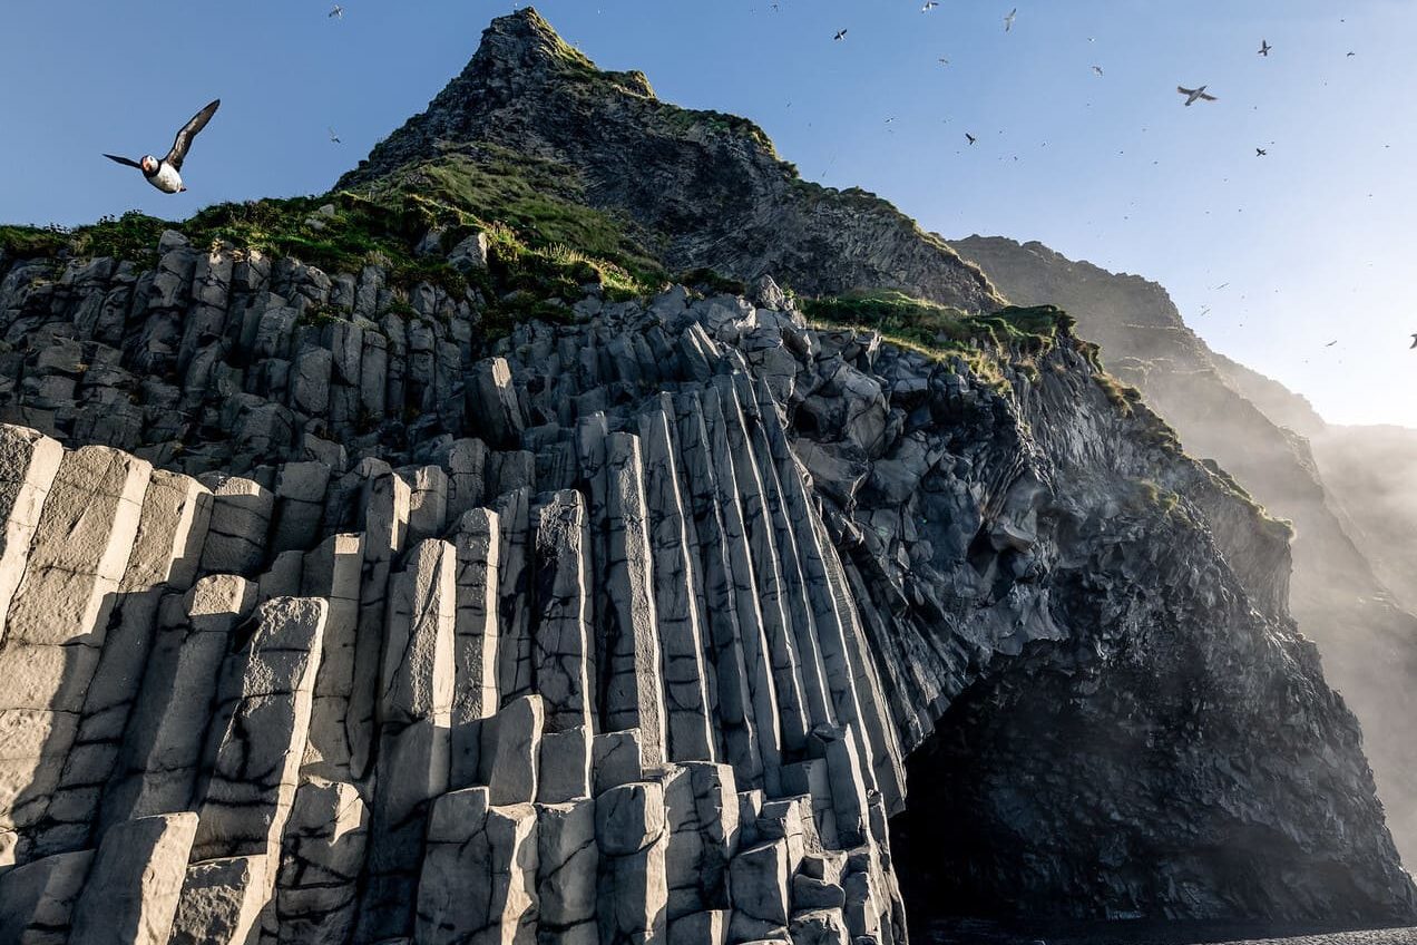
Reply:
[[745, 119], [660, 102], [639, 72], [598, 72], [530, 9], [495, 20], [463, 74], [340, 186], [368, 184], [446, 143], [534, 154], [584, 179], [585, 200], [628, 214], [676, 272], [771, 273], [811, 295], [880, 286], [971, 310], [999, 305], [978, 269], [884, 200], [803, 181]]

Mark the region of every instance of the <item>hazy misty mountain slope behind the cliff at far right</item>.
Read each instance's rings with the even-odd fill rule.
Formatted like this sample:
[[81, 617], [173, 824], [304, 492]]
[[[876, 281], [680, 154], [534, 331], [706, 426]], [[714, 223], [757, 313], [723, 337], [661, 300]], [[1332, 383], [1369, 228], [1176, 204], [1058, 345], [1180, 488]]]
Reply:
[[[1417, 616], [1394, 595], [1417, 574], [1417, 558], [1403, 553], [1417, 514], [1401, 465], [1386, 463], [1376, 443], [1359, 443], [1362, 435], [1328, 428], [1282, 385], [1210, 351], [1153, 282], [1037, 242], [971, 237], [952, 245], [1010, 300], [1068, 309], [1081, 334], [1101, 343], [1108, 370], [1141, 388], [1189, 452], [1217, 460], [1294, 523], [1289, 606], [1362, 721], [1399, 847], [1417, 859], [1417, 744], [1406, 723], [1417, 713]], [[1384, 475], [1384, 487], [1374, 486]], [[1366, 530], [1355, 526], [1359, 519]]]

